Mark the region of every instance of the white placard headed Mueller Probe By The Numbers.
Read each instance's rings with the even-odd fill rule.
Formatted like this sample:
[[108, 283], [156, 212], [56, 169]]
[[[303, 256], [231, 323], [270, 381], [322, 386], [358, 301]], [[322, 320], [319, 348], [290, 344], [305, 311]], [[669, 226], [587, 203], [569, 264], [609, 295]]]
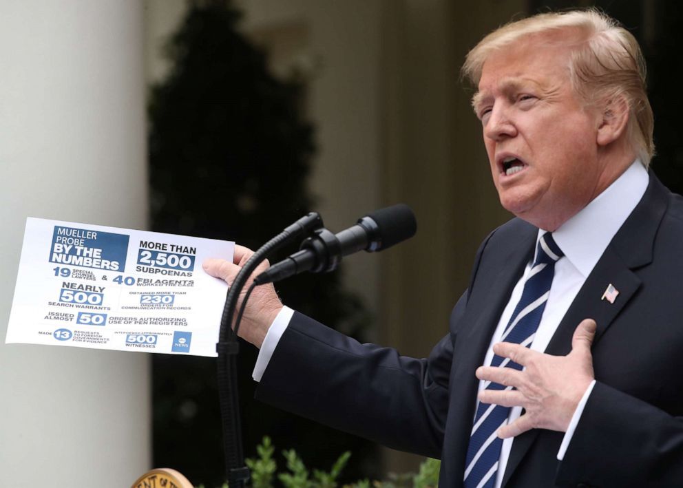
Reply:
[[234, 243], [28, 218], [6, 343], [213, 356]]

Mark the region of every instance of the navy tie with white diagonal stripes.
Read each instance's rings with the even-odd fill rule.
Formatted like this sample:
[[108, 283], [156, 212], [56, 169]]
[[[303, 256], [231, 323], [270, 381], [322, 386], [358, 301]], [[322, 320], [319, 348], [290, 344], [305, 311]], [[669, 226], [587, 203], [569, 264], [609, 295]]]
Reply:
[[[538, 240], [536, 260], [524, 284], [519, 303], [512, 312], [501, 341], [518, 343], [529, 347], [536, 336], [536, 329], [543, 316], [545, 302], [550, 294], [555, 263], [563, 256], [550, 233], [543, 234]], [[522, 366], [494, 355], [492, 366], [521, 370]], [[512, 390], [498, 383], [487, 381], [486, 390]], [[474, 425], [467, 447], [465, 463], [465, 488], [492, 488], [496, 482], [498, 458], [501, 457], [503, 439], [496, 431], [507, 423], [510, 407], [481, 403], [477, 405]]]

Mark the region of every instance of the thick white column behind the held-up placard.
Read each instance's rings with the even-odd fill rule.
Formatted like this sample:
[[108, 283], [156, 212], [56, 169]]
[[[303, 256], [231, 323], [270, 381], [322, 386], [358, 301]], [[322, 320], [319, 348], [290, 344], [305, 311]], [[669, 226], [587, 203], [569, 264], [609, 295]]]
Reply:
[[4, 337], [27, 216], [147, 224], [142, 3], [1, 12], [0, 484], [126, 487], [150, 467], [149, 358]]

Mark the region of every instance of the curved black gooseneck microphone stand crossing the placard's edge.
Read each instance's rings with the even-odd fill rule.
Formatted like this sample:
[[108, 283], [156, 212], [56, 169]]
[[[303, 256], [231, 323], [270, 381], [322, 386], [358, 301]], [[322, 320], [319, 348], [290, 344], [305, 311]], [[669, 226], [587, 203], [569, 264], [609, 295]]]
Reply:
[[[237, 355], [240, 345], [237, 334], [231, 326], [235, 308], [246, 280], [266, 257], [276, 249], [302, 236], [307, 236], [323, 226], [320, 215], [312, 212], [288, 226], [280, 234], [261, 246], [244, 264], [235, 281], [228, 289], [220, 320], [218, 352], [218, 394], [220, 416], [223, 425], [223, 449], [225, 454], [225, 476], [229, 488], [243, 488], [249, 480], [249, 468], [244, 465], [242, 449], [242, 426], [240, 423], [240, 399], [237, 381]], [[246, 299], [246, 297], [244, 298]]]

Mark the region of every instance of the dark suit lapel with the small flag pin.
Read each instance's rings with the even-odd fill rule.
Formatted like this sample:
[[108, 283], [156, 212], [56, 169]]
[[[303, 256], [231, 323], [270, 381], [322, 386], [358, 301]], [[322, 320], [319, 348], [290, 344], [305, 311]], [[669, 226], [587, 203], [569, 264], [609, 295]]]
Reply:
[[[655, 176], [651, 175], [649, 186], [642, 200], [613, 237], [605, 253], [600, 257], [569, 306], [565, 317], [560, 321], [560, 325], [545, 349], [547, 354], [556, 356], [568, 354], [571, 351], [571, 337], [574, 335], [576, 326], [583, 319], [594, 319], [598, 324], [596, 339], [593, 343], [605, 334], [607, 328], [640, 287], [641, 280], [633, 270], [652, 262], [653, 242], [664, 211], [666, 211], [666, 189]], [[602, 299], [602, 295], [610, 284], [619, 292], [613, 303]], [[503, 476], [503, 487], [540, 432], [542, 432], [540, 429], [532, 429], [515, 438], [507, 461], [505, 476]]]

